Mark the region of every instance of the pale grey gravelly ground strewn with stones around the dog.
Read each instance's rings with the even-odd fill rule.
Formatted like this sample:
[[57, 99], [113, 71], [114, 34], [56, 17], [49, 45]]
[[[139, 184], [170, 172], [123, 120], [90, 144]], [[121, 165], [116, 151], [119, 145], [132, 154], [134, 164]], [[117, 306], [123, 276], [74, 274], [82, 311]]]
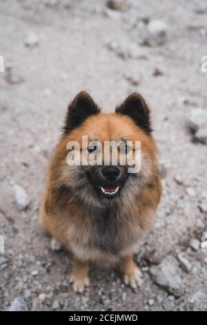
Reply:
[[[206, 1], [114, 2], [1, 0], [1, 310], [207, 309]], [[48, 156], [80, 90], [105, 111], [132, 91], [152, 108], [164, 194], [135, 291], [92, 269], [73, 293], [70, 255], [37, 225]]]

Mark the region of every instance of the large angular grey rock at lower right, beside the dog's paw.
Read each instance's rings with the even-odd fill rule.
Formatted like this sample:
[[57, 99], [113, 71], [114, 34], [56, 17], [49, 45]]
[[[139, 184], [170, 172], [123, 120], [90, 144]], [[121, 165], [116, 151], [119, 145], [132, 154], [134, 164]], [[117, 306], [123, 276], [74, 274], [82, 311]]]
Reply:
[[159, 266], [152, 266], [150, 275], [156, 284], [171, 295], [175, 297], [184, 295], [185, 287], [179, 275], [179, 262], [172, 255], [168, 255]]

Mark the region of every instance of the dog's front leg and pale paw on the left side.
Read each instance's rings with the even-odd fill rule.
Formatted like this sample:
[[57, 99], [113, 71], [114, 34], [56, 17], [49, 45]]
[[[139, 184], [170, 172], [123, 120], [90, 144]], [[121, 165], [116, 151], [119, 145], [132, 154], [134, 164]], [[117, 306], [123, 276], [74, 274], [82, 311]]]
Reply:
[[74, 266], [70, 275], [70, 283], [76, 293], [82, 293], [85, 286], [89, 284], [88, 262], [80, 261], [75, 257]]

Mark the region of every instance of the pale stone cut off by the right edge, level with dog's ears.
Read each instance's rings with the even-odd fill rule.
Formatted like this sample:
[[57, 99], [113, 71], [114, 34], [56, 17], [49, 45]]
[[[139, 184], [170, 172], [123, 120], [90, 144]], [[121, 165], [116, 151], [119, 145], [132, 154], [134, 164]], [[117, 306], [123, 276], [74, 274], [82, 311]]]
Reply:
[[188, 127], [193, 133], [193, 140], [207, 144], [207, 111], [205, 109], [193, 109], [188, 120]]

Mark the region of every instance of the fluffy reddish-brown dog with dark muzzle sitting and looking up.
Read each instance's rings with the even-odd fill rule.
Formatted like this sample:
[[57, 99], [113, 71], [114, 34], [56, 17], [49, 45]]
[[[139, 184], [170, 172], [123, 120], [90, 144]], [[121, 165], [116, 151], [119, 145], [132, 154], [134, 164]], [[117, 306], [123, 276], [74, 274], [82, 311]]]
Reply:
[[[150, 110], [139, 93], [133, 93], [115, 113], [102, 113], [90, 95], [79, 93], [68, 106], [63, 135], [50, 159], [46, 193], [41, 198], [40, 221], [46, 230], [74, 254], [70, 276], [75, 291], [89, 284], [90, 261], [117, 261], [124, 282], [141, 284], [133, 262], [141, 236], [150, 229], [161, 196], [157, 149], [150, 127]], [[67, 144], [77, 141], [81, 157], [97, 146], [90, 141], [141, 141], [141, 169], [130, 174], [128, 166], [68, 165]], [[135, 148], [130, 148], [134, 156]], [[123, 148], [119, 151], [119, 158]], [[128, 154], [128, 145], [124, 146]], [[110, 160], [111, 161], [111, 160]]]

